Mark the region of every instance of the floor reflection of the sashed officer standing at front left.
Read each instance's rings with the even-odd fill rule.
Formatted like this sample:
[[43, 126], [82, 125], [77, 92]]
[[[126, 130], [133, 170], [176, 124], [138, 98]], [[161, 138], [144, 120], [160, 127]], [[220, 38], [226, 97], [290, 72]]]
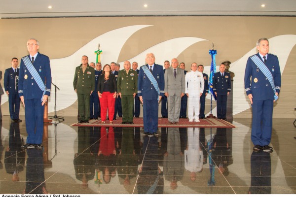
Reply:
[[48, 194], [44, 179], [43, 151], [27, 149], [25, 194]]

